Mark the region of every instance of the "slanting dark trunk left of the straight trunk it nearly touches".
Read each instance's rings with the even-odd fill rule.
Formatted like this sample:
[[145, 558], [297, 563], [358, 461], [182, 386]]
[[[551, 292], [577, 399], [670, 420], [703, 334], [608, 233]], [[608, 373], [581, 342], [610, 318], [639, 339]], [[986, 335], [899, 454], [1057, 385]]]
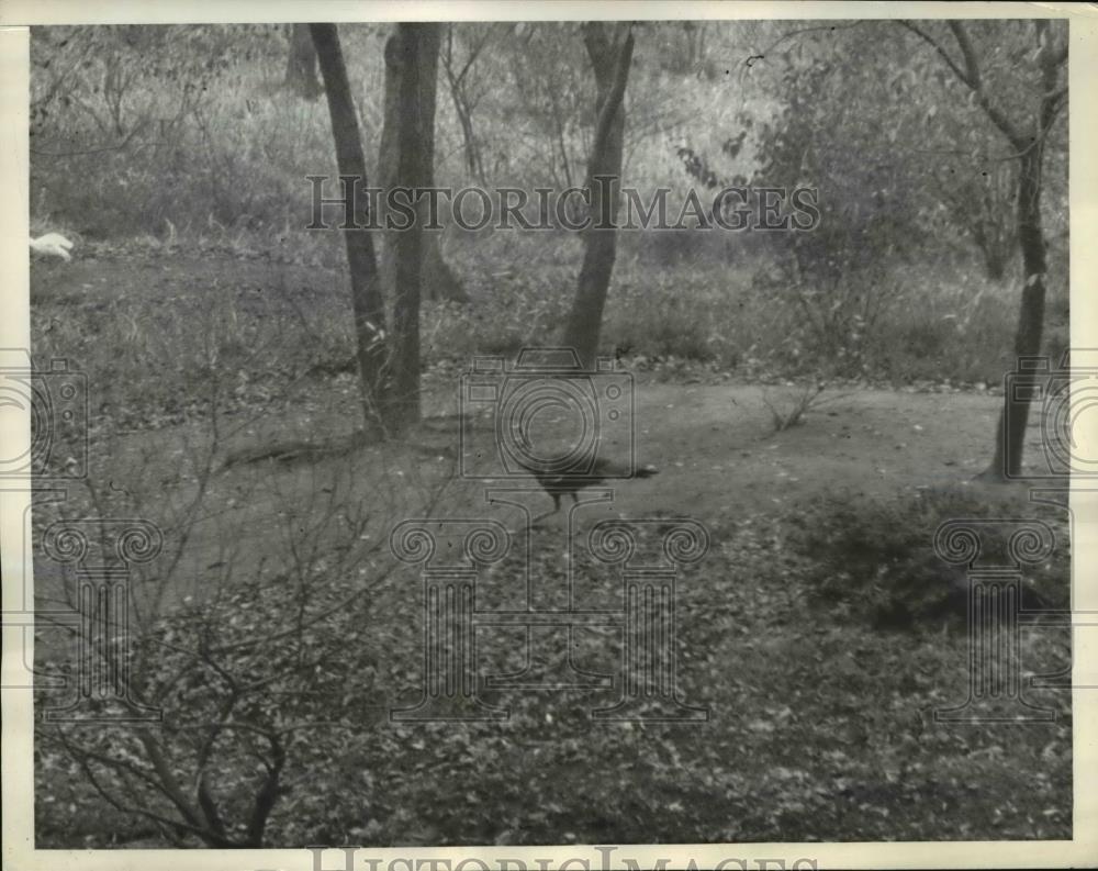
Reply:
[[[336, 146], [339, 175], [366, 187], [366, 157], [358, 130], [358, 115], [347, 80], [339, 34], [335, 24], [310, 24], [316, 55], [324, 76], [324, 90], [332, 115], [332, 135]], [[355, 198], [355, 223], [369, 223], [368, 200], [365, 194]], [[344, 231], [347, 246], [347, 265], [350, 269], [350, 297], [355, 311], [355, 338], [362, 407], [367, 429], [384, 431], [382, 399], [385, 375], [385, 304], [381, 294], [378, 260], [373, 253], [370, 231]]]

